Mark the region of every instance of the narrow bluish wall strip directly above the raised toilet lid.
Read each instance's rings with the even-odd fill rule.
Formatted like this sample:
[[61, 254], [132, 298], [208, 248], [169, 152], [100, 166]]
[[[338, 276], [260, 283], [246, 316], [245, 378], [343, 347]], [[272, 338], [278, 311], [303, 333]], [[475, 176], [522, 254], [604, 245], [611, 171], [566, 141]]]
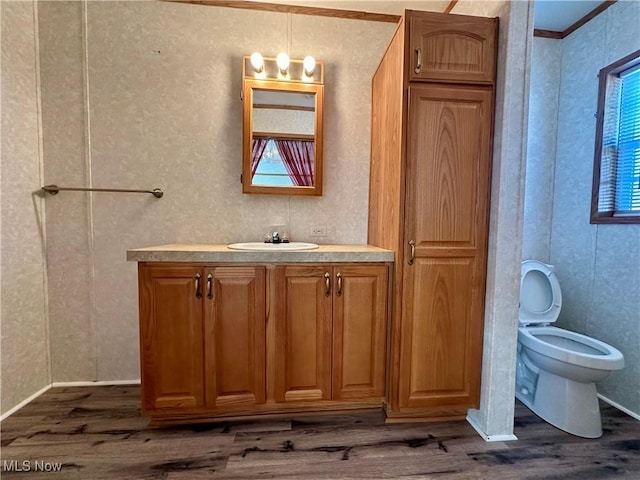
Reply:
[[549, 263], [562, 43], [533, 39], [522, 258]]

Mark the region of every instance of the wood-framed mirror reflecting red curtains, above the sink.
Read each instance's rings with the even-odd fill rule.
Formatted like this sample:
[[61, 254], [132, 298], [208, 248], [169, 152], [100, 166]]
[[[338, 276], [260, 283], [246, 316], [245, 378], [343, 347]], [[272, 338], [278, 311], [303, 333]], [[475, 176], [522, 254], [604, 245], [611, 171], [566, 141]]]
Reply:
[[309, 77], [291, 80], [297, 77], [295, 67], [284, 79], [255, 78], [247, 58], [242, 88], [243, 193], [322, 195], [322, 83]]

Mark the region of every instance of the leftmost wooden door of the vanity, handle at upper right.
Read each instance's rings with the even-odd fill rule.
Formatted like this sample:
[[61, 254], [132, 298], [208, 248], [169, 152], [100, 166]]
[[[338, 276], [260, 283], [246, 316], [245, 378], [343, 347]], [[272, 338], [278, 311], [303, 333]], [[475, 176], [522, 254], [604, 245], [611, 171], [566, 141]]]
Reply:
[[202, 271], [140, 264], [138, 278], [143, 412], [202, 407]]

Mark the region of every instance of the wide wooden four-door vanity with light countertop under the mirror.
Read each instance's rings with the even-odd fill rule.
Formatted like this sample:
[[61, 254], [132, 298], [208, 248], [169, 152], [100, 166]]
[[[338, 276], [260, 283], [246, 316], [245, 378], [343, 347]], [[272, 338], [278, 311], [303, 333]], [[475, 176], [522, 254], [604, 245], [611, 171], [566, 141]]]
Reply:
[[380, 409], [393, 252], [129, 250], [142, 410], [155, 424]]

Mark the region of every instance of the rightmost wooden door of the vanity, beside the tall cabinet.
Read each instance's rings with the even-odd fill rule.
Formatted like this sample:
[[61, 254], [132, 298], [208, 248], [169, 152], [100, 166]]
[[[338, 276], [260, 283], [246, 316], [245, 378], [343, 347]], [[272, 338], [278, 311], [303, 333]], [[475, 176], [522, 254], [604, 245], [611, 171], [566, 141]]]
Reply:
[[334, 269], [334, 400], [384, 398], [388, 275], [384, 265]]

